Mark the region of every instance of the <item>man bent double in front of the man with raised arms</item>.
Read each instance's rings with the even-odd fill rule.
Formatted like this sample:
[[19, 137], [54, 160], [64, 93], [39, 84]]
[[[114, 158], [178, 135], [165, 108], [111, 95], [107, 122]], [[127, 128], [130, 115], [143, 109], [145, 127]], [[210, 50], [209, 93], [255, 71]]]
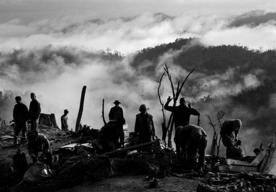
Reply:
[[194, 171], [197, 152], [199, 152], [199, 170], [201, 170], [204, 165], [207, 144], [205, 130], [196, 125], [177, 127], [174, 142], [177, 155], [180, 155], [181, 151], [187, 154], [188, 167], [191, 172]]

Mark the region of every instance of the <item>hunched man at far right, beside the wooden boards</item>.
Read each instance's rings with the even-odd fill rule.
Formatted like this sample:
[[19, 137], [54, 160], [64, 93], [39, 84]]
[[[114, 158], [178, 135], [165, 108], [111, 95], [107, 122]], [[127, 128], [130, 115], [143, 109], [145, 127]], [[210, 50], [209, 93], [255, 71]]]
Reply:
[[226, 157], [239, 159], [245, 157], [244, 149], [240, 147], [241, 140], [238, 140], [238, 134], [242, 127], [240, 119], [226, 120], [220, 129], [221, 141], [226, 146]]

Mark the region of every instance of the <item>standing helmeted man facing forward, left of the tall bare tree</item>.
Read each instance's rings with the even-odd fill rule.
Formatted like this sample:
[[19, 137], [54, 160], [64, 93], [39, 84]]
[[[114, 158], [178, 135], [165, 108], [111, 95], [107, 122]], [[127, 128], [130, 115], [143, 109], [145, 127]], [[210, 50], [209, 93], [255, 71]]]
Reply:
[[153, 116], [147, 110], [147, 106], [143, 104], [139, 108], [140, 113], [136, 115], [134, 132], [138, 135], [138, 144], [151, 142], [155, 136]]

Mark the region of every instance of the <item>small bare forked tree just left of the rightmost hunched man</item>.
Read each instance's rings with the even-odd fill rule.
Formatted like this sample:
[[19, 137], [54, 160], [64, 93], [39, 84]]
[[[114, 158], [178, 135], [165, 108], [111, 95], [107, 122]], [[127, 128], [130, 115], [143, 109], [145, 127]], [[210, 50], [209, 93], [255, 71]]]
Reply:
[[220, 143], [221, 143], [221, 136], [219, 137], [218, 139], [218, 134], [219, 134], [219, 130], [221, 130], [221, 127], [222, 127], [222, 120], [223, 120], [223, 117], [225, 115], [225, 110], [218, 110], [214, 105], [213, 107], [215, 108], [216, 110], [216, 120], [215, 122], [217, 123], [218, 125], [218, 128], [216, 129], [216, 124], [214, 124], [212, 122], [212, 119], [210, 117], [210, 115], [208, 114], [205, 114], [208, 119], [209, 119], [209, 124], [212, 126], [212, 128], [214, 129], [214, 138], [213, 138], [213, 142], [215, 143], [215, 146], [213, 146], [212, 144], [212, 147], [211, 147], [211, 154], [215, 152], [215, 147], [216, 147], [216, 155], [218, 156], [219, 155], [219, 148], [220, 148]]

